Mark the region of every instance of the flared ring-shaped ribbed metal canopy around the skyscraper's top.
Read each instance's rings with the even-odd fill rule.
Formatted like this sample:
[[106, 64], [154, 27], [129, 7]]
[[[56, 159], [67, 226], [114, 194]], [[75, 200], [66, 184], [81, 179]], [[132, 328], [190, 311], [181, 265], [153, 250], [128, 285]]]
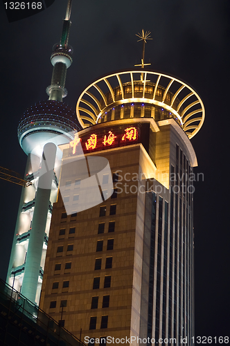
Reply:
[[[137, 97], [134, 86], [140, 83], [143, 84], [143, 93]], [[129, 95], [125, 95], [124, 84], [130, 84], [132, 88]], [[149, 85], [153, 86], [151, 95], [146, 92]], [[114, 93], [116, 88], [121, 91], [118, 98]], [[162, 93], [160, 99], [157, 97], [159, 89]], [[170, 98], [167, 98], [169, 94]], [[204, 104], [191, 86], [170, 75], [143, 70], [112, 73], [91, 83], [80, 95], [76, 113], [80, 125], [85, 128], [95, 125], [109, 109], [130, 102], [154, 104], [167, 109], [179, 119], [188, 138], [193, 138], [204, 122]]]

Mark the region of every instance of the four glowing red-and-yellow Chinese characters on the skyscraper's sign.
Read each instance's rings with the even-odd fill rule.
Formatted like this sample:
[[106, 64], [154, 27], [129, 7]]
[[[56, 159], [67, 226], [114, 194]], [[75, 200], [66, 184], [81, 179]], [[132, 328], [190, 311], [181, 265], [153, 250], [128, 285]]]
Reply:
[[[128, 127], [127, 129], [125, 129], [125, 134], [122, 134], [121, 136], [115, 136], [115, 134], [112, 131], [109, 131], [107, 135], [104, 136], [103, 138], [103, 142], [101, 142], [102, 138], [97, 137], [96, 134], [91, 134], [89, 138], [87, 138], [87, 141], [85, 142], [85, 147], [87, 150], [89, 149], [95, 149], [97, 147], [98, 144], [101, 145], [101, 143], [104, 146], [107, 145], [119, 145], [119, 140], [118, 137], [120, 138], [120, 140], [122, 141], [132, 141], [132, 140], [136, 140], [137, 139], [137, 129], [136, 127]], [[117, 139], [116, 139], [117, 138]], [[78, 143], [80, 143], [82, 141], [82, 138], [78, 138], [78, 134], [74, 135], [74, 140], [72, 140], [70, 142], [70, 146], [73, 148], [73, 152], [72, 154], [76, 154], [76, 147], [78, 145]]]

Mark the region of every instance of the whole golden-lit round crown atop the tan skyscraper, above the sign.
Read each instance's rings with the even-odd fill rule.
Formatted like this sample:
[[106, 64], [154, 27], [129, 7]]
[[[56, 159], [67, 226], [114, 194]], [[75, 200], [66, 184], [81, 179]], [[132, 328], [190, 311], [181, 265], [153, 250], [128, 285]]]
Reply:
[[112, 73], [91, 83], [76, 104], [83, 128], [127, 118], [174, 118], [193, 138], [204, 122], [204, 104], [188, 84], [144, 70]]

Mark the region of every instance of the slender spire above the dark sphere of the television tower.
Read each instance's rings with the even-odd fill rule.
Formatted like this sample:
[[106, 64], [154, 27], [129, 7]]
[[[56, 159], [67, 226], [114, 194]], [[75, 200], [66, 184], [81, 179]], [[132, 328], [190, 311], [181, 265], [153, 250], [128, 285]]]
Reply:
[[68, 0], [66, 17], [63, 20], [60, 43], [53, 46], [53, 53], [51, 54], [53, 74], [51, 85], [46, 88], [46, 93], [49, 95], [48, 100], [62, 101], [62, 98], [67, 95], [67, 89], [64, 87], [64, 85], [67, 76], [67, 69], [73, 62], [73, 48], [68, 45], [69, 30], [71, 26], [71, 6], [72, 0]]

